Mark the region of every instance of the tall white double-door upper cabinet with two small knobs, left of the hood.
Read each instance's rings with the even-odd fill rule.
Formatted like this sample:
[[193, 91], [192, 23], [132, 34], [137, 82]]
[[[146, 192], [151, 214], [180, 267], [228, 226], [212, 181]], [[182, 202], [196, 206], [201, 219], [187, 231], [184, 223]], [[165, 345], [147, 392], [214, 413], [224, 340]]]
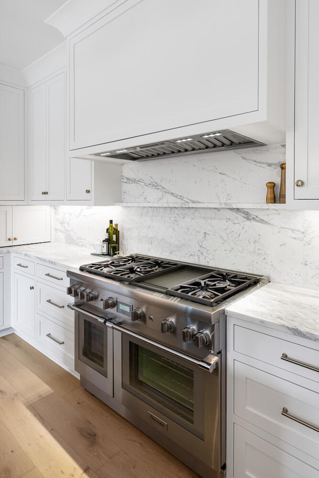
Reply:
[[31, 200], [64, 199], [65, 111], [64, 72], [30, 90]]

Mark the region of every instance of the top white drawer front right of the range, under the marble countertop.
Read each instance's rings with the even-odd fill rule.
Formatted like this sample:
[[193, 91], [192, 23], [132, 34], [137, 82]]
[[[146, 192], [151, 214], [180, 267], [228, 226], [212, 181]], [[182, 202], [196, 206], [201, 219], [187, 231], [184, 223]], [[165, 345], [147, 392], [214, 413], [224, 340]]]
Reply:
[[255, 330], [246, 329], [239, 325], [234, 326], [234, 351], [240, 354], [262, 360], [276, 367], [293, 372], [295, 375], [308, 377], [319, 382], [319, 371], [312, 370], [300, 364], [283, 360], [281, 357], [286, 354], [288, 358], [296, 361], [307, 362], [307, 364], [319, 367], [319, 350], [295, 344], [294, 336], [292, 342], [277, 339]]

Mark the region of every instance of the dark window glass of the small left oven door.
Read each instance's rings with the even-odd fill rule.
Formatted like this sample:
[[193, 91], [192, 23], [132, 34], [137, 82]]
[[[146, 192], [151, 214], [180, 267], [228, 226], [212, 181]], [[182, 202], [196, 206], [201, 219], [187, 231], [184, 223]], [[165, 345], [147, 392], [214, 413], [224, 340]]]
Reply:
[[104, 328], [84, 319], [82, 355], [100, 367], [104, 367]]

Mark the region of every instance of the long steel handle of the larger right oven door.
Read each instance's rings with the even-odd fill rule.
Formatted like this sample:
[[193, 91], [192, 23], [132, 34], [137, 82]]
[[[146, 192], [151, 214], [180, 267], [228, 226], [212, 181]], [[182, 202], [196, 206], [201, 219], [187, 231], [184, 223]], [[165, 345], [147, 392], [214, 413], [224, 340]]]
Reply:
[[141, 337], [139, 334], [135, 334], [134, 332], [123, 329], [122, 327], [119, 327], [116, 324], [113, 324], [113, 329], [118, 330], [122, 334], [126, 334], [130, 337], [134, 337], [135, 339], [138, 339], [141, 342], [144, 342], [145, 344], [152, 345], [156, 349], [159, 349], [163, 352], [167, 352], [170, 355], [172, 355], [174, 357], [177, 357], [178, 359], [183, 359], [183, 360], [187, 361], [188, 363], [192, 363], [193, 365], [197, 365], [198, 367], [203, 368], [204, 370], [208, 370], [210, 373], [212, 373], [215, 370], [215, 368], [218, 364], [219, 358], [217, 357], [217, 355], [208, 354], [207, 357], [205, 357], [202, 360], [194, 359], [192, 357], [189, 357], [188, 355], [185, 355], [185, 354], [182, 354], [181, 352], [178, 352], [177, 350], [170, 349], [169, 347], [161, 345], [158, 342], [154, 342], [151, 339], [148, 339], [146, 337]]

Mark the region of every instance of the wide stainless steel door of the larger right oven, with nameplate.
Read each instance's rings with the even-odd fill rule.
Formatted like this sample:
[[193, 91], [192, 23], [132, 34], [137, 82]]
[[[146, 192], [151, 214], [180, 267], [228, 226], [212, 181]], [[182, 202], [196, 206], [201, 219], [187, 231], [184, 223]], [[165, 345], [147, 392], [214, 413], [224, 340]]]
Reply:
[[[115, 398], [126, 418], [190, 467], [201, 461], [204, 470], [218, 473], [220, 367], [209, 373], [117, 330], [114, 351]], [[198, 473], [205, 475], [201, 468]]]

